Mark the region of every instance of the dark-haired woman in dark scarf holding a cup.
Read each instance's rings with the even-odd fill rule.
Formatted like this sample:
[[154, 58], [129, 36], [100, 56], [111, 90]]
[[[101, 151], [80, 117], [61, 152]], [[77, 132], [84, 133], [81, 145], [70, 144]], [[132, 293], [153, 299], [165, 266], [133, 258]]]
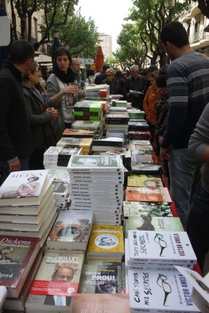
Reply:
[[55, 107], [60, 123], [54, 125], [57, 138], [62, 137], [63, 130], [70, 128], [74, 121], [72, 109], [77, 102], [78, 87], [75, 85], [75, 73], [71, 70], [72, 57], [68, 49], [59, 47], [54, 52], [54, 72], [47, 79], [46, 96], [48, 105]]

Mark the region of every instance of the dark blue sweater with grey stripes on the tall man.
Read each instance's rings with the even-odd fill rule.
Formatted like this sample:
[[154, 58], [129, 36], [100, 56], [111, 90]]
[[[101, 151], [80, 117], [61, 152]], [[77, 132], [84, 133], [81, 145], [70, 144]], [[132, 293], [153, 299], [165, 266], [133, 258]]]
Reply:
[[203, 109], [209, 102], [209, 59], [187, 52], [167, 69], [169, 116], [162, 148], [187, 148]]

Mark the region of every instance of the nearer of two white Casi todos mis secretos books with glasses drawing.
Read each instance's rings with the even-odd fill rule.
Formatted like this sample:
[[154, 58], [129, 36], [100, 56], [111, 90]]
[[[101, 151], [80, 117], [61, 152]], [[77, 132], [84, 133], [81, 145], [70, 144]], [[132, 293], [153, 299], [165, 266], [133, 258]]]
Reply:
[[199, 312], [178, 270], [128, 270], [132, 312]]

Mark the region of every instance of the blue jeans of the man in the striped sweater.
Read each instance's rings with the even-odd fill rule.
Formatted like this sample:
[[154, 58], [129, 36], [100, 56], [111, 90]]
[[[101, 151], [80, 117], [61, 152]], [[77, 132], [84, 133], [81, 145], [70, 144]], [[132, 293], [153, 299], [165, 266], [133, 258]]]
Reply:
[[199, 161], [189, 156], [187, 148], [171, 151], [171, 161], [169, 162], [170, 191], [180, 220], [185, 228], [187, 227], [195, 172], [199, 165]]

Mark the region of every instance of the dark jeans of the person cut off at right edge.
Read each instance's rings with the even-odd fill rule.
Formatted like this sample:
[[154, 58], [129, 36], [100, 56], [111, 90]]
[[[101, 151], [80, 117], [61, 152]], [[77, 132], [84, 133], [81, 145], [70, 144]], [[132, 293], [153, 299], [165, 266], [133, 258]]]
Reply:
[[187, 233], [192, 247], [203, 270], [206, 253], [209, 250], [209, 190], [206, 192], [201, 186], [197, 186], [190, 206]]

